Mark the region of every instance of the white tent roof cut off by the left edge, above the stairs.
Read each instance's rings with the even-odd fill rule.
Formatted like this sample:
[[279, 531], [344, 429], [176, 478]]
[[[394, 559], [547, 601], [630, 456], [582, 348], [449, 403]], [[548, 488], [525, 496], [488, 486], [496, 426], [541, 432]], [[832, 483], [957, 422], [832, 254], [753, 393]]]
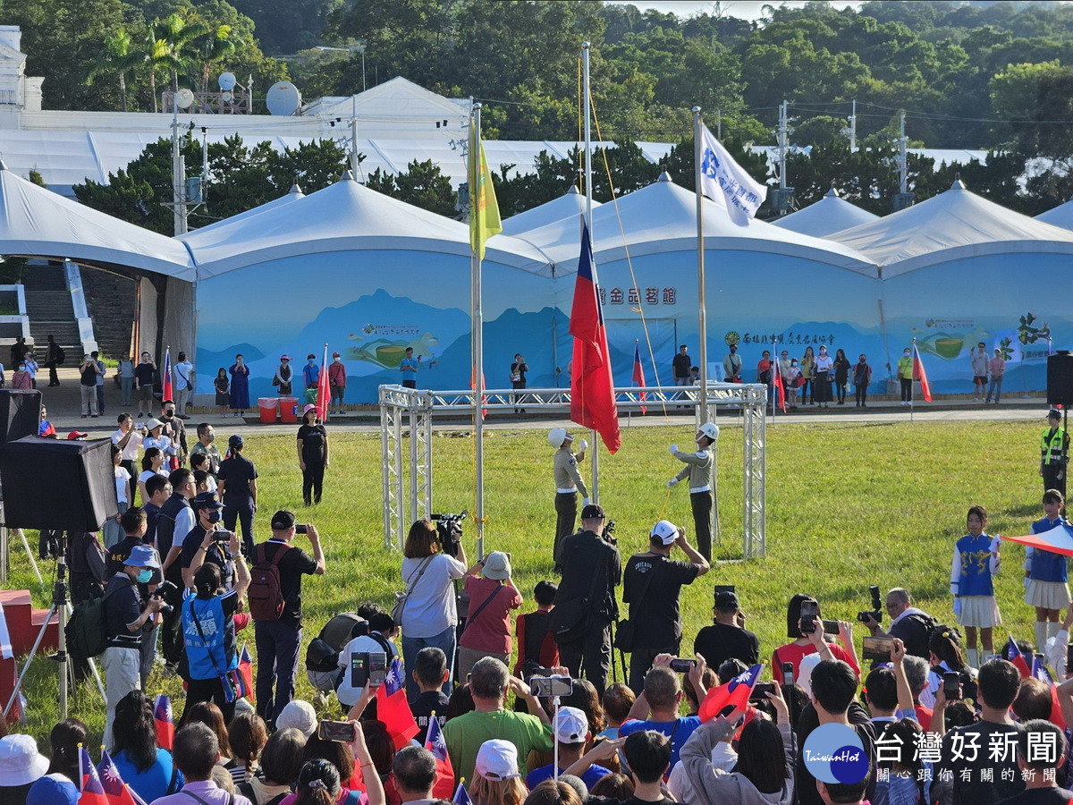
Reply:
[[70, 258], [194, 279], [182, 244], [38, 187], [2, 162], [0, 254]]

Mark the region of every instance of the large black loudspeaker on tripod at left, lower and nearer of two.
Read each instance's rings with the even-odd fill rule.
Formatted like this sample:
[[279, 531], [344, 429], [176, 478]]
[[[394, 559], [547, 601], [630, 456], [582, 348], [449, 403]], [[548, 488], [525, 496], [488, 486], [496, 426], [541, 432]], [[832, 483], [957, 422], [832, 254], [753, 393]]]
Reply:
[[36, 435], [0, 448], [4, 525], [95, 531], [119, 511], [112, 440]]

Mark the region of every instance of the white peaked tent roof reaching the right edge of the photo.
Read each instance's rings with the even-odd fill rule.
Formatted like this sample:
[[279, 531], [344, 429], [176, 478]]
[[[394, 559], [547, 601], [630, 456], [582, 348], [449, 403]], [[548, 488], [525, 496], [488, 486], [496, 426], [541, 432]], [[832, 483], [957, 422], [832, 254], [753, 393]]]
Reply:
[[884, 278], [986, 254], [1073, 254], [1073, 232], [987, 201], [960, 179], [939, 195], [831, 239], [867, 254]]

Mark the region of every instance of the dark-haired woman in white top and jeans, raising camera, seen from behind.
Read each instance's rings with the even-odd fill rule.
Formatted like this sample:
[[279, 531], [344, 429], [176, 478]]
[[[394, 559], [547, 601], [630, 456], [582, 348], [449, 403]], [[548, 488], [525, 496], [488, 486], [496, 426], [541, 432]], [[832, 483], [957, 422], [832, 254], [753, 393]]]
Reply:
[[[430, 519], [416, 521], [407, 535], [402, 548], [406, 589], [392, 616], [402, 629], [402, 660], [408, 669], [414, 667], [417, 652], [426, 646], [441, 649], [447, 658], [447, 667], [454, 665], [455, 628], [458, 626], [454, 582], [466, 575], [467, 565], [461, 540], [453, 539], [455, 528], [455, 523], [444, 522], [447, 544]], [[457, 555], [452, 555], [452, 551]], [[449, 679], [443, 685], [443, 692], [450, 691]], [[421, 696], [413, 679], [407, 679], [406, 696], [411, 702]]]

